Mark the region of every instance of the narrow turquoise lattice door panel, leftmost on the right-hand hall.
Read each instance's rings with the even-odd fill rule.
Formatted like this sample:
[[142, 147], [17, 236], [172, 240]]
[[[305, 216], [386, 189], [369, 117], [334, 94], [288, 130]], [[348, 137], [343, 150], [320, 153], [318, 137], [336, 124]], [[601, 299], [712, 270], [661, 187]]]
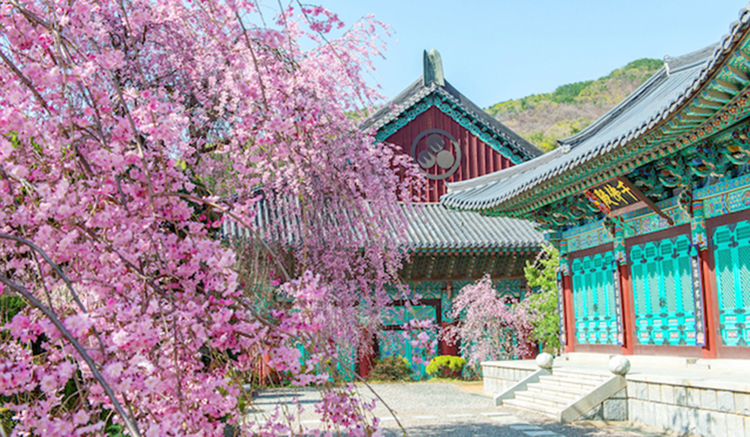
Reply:
[[618, 343], [613, 260], [612, 252], [573, 260], [575, 335], [580, 344]]

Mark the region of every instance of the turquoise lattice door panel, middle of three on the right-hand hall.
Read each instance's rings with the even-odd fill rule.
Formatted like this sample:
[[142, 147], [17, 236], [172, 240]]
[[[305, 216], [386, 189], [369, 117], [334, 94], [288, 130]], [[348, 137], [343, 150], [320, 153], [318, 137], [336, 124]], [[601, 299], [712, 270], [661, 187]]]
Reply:
[[[702, 315], [696, 317], [690, 244], [688, 235], [680, 235], [639, 244], [630, 250], [639, 343], [697, 344], [696, 335], [702, 329], [697, 329], [696, 320]], [[700, 290], [697, 292], [700, 294]]]

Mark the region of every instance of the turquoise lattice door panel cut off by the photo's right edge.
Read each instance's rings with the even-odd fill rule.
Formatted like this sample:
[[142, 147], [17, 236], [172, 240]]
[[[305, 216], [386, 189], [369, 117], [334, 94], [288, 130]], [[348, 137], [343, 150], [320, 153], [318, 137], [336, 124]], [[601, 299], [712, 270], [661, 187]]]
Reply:
[[713, 236], [721, 339], [750, 344], [750, 222], [719, 226]]

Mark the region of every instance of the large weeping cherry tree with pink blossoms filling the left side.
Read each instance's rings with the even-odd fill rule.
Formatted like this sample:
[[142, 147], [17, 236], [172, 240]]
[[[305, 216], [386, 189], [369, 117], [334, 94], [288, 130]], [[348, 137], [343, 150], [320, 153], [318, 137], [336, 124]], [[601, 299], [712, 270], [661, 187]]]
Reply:
[[[324, 427], [376, 432], [331, 363], [404, 256], [417, 172], [349, 117], [379, 98], [362, 73], [387, 28], [267, 11], [0, 2], [0, 299], [25, 303], [0, 328], [2, 435], [301, 432], [243, 416], [261, 355], [320, 387]], [[255, 227], [260, 193], [294, 244]], [[267, 280], [219, 238], [228, 221]]]

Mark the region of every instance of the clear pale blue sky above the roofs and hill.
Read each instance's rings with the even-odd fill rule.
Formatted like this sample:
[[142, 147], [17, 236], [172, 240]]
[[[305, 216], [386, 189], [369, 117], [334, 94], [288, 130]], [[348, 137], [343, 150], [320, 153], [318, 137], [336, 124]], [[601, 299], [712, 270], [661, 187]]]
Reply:
[[370, 78], [393, 97], [437, 49], [445, 77], [481, 107], [609, 74], [644, 57], [718, 41], [747, 0], [312, 0], [346, 24], [372, 13], [395, 30]]

